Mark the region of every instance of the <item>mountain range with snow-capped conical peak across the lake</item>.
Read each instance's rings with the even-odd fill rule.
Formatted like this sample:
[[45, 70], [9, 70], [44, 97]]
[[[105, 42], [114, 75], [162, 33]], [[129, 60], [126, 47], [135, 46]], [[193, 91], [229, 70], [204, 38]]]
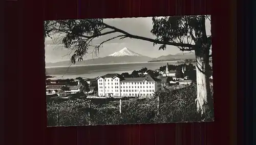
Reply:
[[[109, 56], [99, 57], [97, 59], [90, 59], [77, 62], [75, 65], [96, 65], [96, 64], [115, 64], [115, 63], [139, 63], [139, 62], [162, 62], [162, 61], [182, 61], [185, 59], [195, 59], [194, 52], [169, 54], [156, 58], [144, 56], [136, 53], [129, 48], [124, 47], [118, 52], [110, 54]], [[69, 66], [70, 61], [62, 61], [56, 63], [46, 63], [46, 67]]]

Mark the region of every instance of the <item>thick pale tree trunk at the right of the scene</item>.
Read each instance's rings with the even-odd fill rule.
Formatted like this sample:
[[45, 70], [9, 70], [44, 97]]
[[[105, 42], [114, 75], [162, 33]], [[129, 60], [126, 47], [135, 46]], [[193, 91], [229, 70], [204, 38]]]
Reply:
[[214, 109], [209, 81], [209, 49], [206, 45], [195, 49], [197, 72], [197, 111], [205, 114]]

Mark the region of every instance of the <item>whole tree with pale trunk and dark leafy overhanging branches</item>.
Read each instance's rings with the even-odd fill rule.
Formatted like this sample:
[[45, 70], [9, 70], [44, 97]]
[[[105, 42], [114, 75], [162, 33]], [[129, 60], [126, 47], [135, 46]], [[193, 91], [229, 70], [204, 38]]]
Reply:
[[[136, 36], [120, 30], [117, 27], [104, 23], [103, 19], [83, 20], [55, 20], [45, 22], [45, 37], [51, 34], [64, 35], [62, 42], [66, 48], [73, 50], [71, 62], [82, 61], [88, 53], [89, 47], [99, 52], [103, 43], [113, 39], [133, 38], [160, 44], [159, 50], [165, 50], [167, 45], [178, 47], [181, 51], [195, 51], [197, 66], [197, 110], [202, 114], [213, 110], [209, 83], [209, 51], [211, 49], [211, 36], [206, 35], [205, 21], [210, 16], [173, 16], [153, 17], [151, 33], [156, 39]], [[115, 37], [93, 45], [92, 41], [100, 36], [116, 33]]]

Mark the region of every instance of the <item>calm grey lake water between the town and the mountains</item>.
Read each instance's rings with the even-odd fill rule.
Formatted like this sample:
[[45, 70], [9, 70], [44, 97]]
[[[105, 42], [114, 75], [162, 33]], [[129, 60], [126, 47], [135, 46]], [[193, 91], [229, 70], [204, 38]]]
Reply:
[[[167, 62], [151, 62], [151, 63], [126, 63], [126, 64], [102, 64], [102, 65], [84, 65], [71, 67], [49, 67], [46, 68], [46, 75], [54, 76], [54, 78], [96, 78], [108, 73], [132, 73], [134, 70], [140, 70], [143, 67], [155, 70], [161, 66], [165, 66]], [[168, 62], [169, 65], [179, 65], [176, 61]]]

